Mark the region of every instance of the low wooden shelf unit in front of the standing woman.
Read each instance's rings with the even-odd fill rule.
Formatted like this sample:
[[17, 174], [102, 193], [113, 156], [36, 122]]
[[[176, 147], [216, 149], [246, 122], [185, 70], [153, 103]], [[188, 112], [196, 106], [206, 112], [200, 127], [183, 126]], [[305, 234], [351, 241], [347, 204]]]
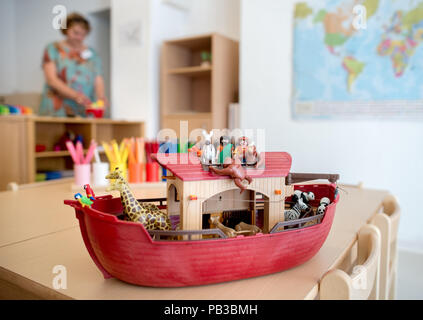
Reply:
[[[53, 151], [54, 144], [66, 132], [81, 134], [84, 149], [92, 139], [101, 143], [127, 137], [144, 137], [144, 123], [110, 119], [55, 118], [38, 116], [1, 116], [0, 190], [9, 182], [18, 184], [35, 182], [39, 171], [69, 170], [73, 168], [67, 150]], [[43, 144], [46, 151], [35, 152]], [[106, 160], [105, 155], [101, 157]]]

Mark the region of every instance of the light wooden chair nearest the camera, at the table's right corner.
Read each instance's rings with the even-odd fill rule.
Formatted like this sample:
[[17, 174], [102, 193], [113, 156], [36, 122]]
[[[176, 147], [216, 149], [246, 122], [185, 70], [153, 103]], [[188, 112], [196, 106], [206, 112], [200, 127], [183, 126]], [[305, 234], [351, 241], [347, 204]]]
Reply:
[[358, 233], [357, 264], [352, 272], [328, 271], [320, 281], [321, 300], [377, 300], [381, 235], [378, 228], [365, 225]]

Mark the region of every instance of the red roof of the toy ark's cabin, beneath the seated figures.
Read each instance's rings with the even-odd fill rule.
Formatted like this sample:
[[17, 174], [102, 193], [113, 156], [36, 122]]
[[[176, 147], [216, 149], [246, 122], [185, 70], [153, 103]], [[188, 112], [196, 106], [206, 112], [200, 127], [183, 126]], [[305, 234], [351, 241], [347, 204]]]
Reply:
[[[252, 178], [286, 177], [291, 169], [292, 158], [287, 152], [262, 152], [264, 168], [246, 168]], [[162, 167], [183, 181], [230, 179], [229, 176], [219, 176], [204, 171], [200, 160], [194, 153], [157, 153], [152, 158]]]

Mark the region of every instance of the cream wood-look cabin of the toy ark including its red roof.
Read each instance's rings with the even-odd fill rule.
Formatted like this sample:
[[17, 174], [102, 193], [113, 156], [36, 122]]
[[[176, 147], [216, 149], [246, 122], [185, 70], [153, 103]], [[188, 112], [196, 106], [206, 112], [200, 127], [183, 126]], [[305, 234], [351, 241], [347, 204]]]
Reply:
[[292, 185], [286, 185], [292, 160], [286, 152], [264, 152], [261, 157], [262, 167], [246, 168], [253, 181], [241, 194], [231, 177], [203, 170], [191, 154], [156, 154], [155, 160], [168, 172], [168, 215], [180, 216], [180, 230], [201, 230], [204, 214], [227, 211], [249, 211], [250, 222], [255, 224], [256, 197], [261, 194], [263, 232], [268, 233], [284, 221], [285, 197], [294, 192]]

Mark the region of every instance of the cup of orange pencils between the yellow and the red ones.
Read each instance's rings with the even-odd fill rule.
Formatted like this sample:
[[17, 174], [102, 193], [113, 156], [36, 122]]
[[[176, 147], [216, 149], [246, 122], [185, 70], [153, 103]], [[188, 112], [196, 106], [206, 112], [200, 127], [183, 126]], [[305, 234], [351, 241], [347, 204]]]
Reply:
[[143, 182], [144, 173], [144, 139], [126, 139], [128, 148], [128, 179], [130, 183]]

